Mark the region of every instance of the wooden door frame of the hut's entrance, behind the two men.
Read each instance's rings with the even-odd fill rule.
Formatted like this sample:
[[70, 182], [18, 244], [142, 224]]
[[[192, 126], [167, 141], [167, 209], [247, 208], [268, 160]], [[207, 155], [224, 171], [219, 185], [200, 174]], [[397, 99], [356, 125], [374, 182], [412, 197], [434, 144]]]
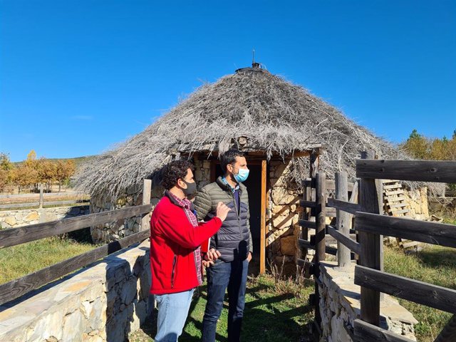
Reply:
[[[210, 181], [215, 182], [216, 167], [220, 164], [220, 160], [211, 160]], [[261, 207], [260, 207], [260, 233], [259, 233], [259, 273], [264, 274], [266, 271], [266, 204], [268, 185], [267, 185], [267, 160], [248, 160], [247, 165], [260, 165], [261, 166]]]

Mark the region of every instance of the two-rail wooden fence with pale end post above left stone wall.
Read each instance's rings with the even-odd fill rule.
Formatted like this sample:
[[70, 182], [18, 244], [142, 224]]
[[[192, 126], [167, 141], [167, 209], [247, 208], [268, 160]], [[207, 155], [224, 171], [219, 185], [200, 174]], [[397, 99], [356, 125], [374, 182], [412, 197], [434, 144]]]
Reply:
[[115, 222], [118, 219], [142, 216], [140, 232], [138, 233], [129, 235], [128, 237], [124, 237], [123, 239], [119, 239], [115, 242], [110, 242], [102, 247], [98, 247], [71, 259], [61, 261], [58, 264], [53, 264], [45, 269], [27, 274], [19, 279], [1, 284], [0, 305], [8, 301], [12, 301], [19, 296], [23, 296], [32, 290], [38, 289], [53, 280], [59, 279], [62, 276], [76, 271], [83, 266], [87, 266], [98, 259], [102, 259], [109, 254], [118, 252], [120, 249], [129, 247], [132, 244], [136, 244], [147, 239], [150, 236], [149, 214], [152, 210], [152, 206], [150, 204], [150, 192], [151, 181], [144, 180], [142, 205], [72, 217], [70, 219], [61, 219], [53, 222], [31, 224], [25, 227], [0, 230], [0, 248], [6, 248], [43, 239], [45, 237], [53, 237], [73, 232], [75, 230], [91, 227], [97, 224]]

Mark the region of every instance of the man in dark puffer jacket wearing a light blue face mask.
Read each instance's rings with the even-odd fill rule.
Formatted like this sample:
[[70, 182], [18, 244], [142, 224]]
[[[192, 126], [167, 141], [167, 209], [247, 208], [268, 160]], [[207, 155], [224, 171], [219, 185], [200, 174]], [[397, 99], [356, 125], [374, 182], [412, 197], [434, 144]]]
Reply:
[[247, 269], [252, 259], [252, 234], [249, 224], [249, 196], [242, 184], [249, 175], [243, 152], [229, 150], [220, 158], [224, 176], [206, 185], [195, 198], [199, 220], [212, 219], [218, 202], [231, 209], [222, 228], [214, 234], [209, 259], [218, 257], [207, 267], [207, 304], [204, 311], [202, 341], [214, 342], [217, 320], [222, 313], [228, 289], [228, 341], [239, 342], [244, 316]]

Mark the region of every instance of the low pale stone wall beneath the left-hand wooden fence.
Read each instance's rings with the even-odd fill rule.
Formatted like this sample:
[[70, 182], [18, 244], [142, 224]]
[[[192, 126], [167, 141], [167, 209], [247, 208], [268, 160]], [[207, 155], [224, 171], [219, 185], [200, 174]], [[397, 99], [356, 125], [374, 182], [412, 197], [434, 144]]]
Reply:
[[0, 306], [0, 341], [126, 341], [150, 316], [149, 242]]

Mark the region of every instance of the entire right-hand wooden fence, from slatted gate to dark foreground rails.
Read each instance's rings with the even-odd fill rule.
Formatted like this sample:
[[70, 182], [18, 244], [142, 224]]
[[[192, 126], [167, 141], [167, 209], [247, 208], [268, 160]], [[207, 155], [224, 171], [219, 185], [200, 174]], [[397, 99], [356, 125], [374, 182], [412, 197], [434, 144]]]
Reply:
[[[427, 244], [456, 247], [456, 227], [452, 224], [424, 222], [417, 219], [385, 216], [381, 208], [381, 179], [409, 180], [423, 182], [456, 182], [456, 162], [446, 161], [410, 161], [410, 160], [375, 160], [356, 161], [356, 175], [359, 180], [358, 204], [352, 198], [347, 200], [346, 175], [336, 175], [336, 199], [325, 199], [326, 177], [318, 173], [308, 185], [316, 189], [313, 200], [304, 199], [301, 206], [310, 208], [315, 222], [311, 219], [300, 221], [302, 227], [316, 229], [314, 241], [299, 239], [302, 247], [315, 249], [312, 262], [299, 260], [299, 264], [309, 269], [307, 274], [314, 274], [316, 294], [311, 297], [311, 304], [316, 307], [316, 326], [320, 324], [318, 309], [319, 261], [325, 259], [325, 253], [337, 254], [338, 266], [351, 262], [356, 254], [354, 283], [361, 286], [361, 319], [354, 321], [353, 340], [357, 342], [375, 341], [411, 341], [408, 338], [379, 328], [380, 294], [390, 294], [401, 299], [456, 314], [456, 291], [423, 281], [388, 274], [383, 271], [383, 235], [411, 239]], [[356, 183], [353, 185], [356, 190]], [[304, 194], [306, 195], [306, 194]], [[324, 217], [326, 207], [336, 209], [336, 227], [326, 225]], [[354, 215], [354, 229], [349, 229], [351, 215]], [[309, 217], [308, 217], [309, 218]], [[357, 233], [357, 241], [349, 233]], [[328, 249], [325, 236], [330, 234], [337, 240], [338, 248]], [[350, 251], [350, 252], [349, 252]], [[442, 330], [435, 342], [456, 341], [456, 315]]]

